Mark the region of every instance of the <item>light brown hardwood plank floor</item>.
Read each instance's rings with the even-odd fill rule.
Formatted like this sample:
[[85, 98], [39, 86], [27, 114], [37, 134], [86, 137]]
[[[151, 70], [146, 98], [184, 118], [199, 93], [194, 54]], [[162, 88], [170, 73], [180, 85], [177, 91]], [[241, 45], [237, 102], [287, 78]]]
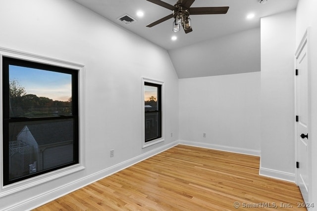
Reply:
[[306, 211], [299, 188], [259, 175], [260, 158], [178, 145], [35, 211]]

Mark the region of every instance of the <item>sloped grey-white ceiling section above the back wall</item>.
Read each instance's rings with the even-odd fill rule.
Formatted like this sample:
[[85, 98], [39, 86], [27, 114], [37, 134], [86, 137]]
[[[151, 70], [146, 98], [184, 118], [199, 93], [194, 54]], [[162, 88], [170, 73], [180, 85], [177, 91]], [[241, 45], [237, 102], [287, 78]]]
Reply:
[[260, 71], [260, 28], [168, 51], [180, 79]]

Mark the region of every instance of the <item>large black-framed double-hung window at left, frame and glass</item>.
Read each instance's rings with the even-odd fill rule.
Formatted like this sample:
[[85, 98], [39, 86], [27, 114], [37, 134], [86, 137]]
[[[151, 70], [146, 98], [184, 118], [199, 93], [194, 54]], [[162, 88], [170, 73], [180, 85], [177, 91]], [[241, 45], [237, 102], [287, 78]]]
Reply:
[[3, 184], [79, 163], [78, 70], [2, 57]]

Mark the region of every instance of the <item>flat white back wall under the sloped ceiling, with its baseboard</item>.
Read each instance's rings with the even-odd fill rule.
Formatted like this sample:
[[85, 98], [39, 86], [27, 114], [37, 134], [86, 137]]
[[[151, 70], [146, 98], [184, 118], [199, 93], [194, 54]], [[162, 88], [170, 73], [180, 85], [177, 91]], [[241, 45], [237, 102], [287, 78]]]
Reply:
[[180, 79], [181, 143], [260, 155], [259, 103], [260, 72]]

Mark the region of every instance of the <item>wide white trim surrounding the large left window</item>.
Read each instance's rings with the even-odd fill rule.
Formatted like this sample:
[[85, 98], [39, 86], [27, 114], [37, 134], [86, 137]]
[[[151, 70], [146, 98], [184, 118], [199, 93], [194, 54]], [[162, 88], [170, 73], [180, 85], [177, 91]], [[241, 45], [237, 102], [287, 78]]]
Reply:
[[0, 127], [0, 132], [3, 134], [2, 131], [2, 56], [7, 56], [7, 57], [14, 57], [14, 58], [19, 58], [19, 59], [24, 59], [24, 60], [29, 60], [29, 61], [35, 61], [39, 63], [45, 63], [45, 64], [50, 64], [50, 65], [55, 65], [55, 66], [60, 66], [60, 67], [65, 67], [65, 68], [70, 68], [70, 69], [76, 69], [79, 70], [78, 73], [78, 114], [79, 114], [79, 163], [70, 167], [66, 167], [63, 169], [58, 169], [55, 171], [51, 171], [45, 174], [41, 174], [39, 176], [35, 176], [29, 179], [25, 179], [23, 181], [15, 182], [13, 184], [9, 185], [3, 185], [3, 148], [2, 148], [2, 142], [3, 142], [3, 136], [1, 135], [0, 140], [0, 163], [1, 163], [1, 168], [0, 168], [0, 198], [34, 187], [36, 185], [52, 181], [53, 179], [60, 178], [65, 175], [69, 175], [71, 173], [77, 172], [79, 170], [85, 169], [85, 149], [84, 149], [84, 77], [85, 77], [85, 66], [81, 64], [76, 64], [72, 62], [67, 62], [67, 61], [62, 61], [58, 59], [53, 59], [49, 57], [44, 57], [40, 55], [35, 55], [35, 54], [30, 54], [26, 52], [21, 52], [17, 50], [12, 50], [8, 48], [2, 48], [0, 47], [0, 82], [1, 82], [1, 87], [0, 87], [0, 120], [1, 120], [1, 127]]

